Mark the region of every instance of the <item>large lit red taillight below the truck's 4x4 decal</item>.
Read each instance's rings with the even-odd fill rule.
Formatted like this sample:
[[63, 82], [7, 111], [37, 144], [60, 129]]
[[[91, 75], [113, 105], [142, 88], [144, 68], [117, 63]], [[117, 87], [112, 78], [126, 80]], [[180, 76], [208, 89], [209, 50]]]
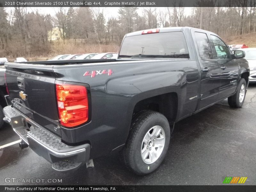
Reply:
[[82, 85], [56, 84], [60, 124], [75, 127], [88, 120], [87, 89]]

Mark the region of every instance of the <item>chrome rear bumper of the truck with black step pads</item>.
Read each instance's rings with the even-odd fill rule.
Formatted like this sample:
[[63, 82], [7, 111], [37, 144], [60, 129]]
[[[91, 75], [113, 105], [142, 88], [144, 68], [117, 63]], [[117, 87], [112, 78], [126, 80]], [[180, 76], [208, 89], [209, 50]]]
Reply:
[[[12, 106], [5, 107], [3, 111], [4, 120], [11, 124], [20, 139], [26, 142], [36, 154], [52, 163], [53, 169], [57, 171], [76, 169], [89, 160], [90, 144], [69, 146], [63, 143], [59, 137], [31, 121], [15, 108], [12, 108]], [[29, 127], [28, 124], [30, 125]], [[65, 169], [60, 167], [60, 164]]]

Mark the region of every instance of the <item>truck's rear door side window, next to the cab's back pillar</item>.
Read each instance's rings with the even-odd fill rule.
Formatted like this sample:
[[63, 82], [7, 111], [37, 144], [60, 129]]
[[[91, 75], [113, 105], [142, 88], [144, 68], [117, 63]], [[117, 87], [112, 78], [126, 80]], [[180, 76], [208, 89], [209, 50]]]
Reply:
[[195, 37], [201, 59], [212, 59], [212, 50], [207, 35], [195, 32]]

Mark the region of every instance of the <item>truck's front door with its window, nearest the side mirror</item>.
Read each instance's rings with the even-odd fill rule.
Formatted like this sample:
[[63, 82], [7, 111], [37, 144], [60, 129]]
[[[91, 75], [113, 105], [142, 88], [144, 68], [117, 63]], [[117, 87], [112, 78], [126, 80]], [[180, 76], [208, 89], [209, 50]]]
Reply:
[[210, 35], [213, 59], [220, 65], [220, 93], [218, 100], [227, 98], [236, 91], [239, 64], [231, 59], [228, 46], [218, 37]]

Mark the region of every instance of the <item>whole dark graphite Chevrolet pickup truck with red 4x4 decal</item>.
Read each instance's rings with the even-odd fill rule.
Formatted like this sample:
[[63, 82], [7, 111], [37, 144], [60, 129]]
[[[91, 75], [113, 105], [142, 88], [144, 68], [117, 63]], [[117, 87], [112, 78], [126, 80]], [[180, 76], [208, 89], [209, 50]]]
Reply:
[[167, 153], [170, 125], [225, 98], [243, 105], [243, 57], [214, 33], [177, 27], [126, 34], [118, 59], [6, 63], [4, 119], [55, 170], [120, 151], [147, 174]]

